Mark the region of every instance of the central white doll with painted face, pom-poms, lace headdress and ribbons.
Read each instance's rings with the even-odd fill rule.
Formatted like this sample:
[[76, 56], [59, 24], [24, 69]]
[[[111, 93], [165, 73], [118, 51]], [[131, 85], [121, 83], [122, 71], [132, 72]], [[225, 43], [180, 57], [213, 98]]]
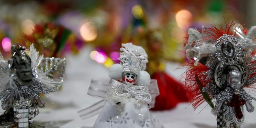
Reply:
[[110, 83], [92, 80], [88, 90], [88, 95], [105, 99], [78, 113], [83, 119], [100, 113], [93, 128], [162, 128], [149, 111], [159, 90], [157, 81], [144, 71], [145, 50], [126, 43], [120, 51], [120, 64], [110, 68]]

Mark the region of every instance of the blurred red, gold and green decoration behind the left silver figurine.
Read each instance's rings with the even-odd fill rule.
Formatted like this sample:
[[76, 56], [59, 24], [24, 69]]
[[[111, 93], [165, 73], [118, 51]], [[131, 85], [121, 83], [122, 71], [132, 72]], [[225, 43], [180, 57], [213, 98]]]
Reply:
[[39, 53], [45, 57], [57, 57], [62, 56], [70, 34], [71, 31], [63, 26], [55, 25], [51, 22], [41, 23], [34, 26], [32, 33], [24, 33], [25, 41], [20, 41], [23, 41], [23, 44], [27, 46], [33, 43]]

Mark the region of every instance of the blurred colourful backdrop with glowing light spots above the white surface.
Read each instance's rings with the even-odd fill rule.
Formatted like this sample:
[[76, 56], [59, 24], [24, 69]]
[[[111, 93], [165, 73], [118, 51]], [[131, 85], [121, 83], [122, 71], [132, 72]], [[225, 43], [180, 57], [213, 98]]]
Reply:
[[81, 48], [91, 46], [104, 56], [96, 61], [110, 67], [117, 62], [113, 52], [121, 43], [143, 46], [155, 41], [161, 42], [163, 58], [182, 61], [178, 55], [188, 28], [231, 20], [250, 27], [256, 22], [255, 4], [254, 0], [1, 1], [1, 53], [8, 54], [8, 39], [27, 46], [36, 43], [47, 56], [79, 54]]

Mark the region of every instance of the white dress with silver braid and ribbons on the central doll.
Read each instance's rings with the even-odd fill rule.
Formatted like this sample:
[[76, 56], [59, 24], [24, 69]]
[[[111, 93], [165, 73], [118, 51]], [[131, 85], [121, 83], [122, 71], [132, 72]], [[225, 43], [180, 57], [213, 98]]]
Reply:
[[[93, 88], [89, 88], [88, 92], [90, 89], [93, 90]], [[103, 92], [103, 90], [97, 92], [99, 91]], [[99, 111], [100, 114], [93, 128], [162, 128], [163, 126], [149, 111], [150, 106], [154, 106], [155, 97], [158, 94], [156, 80], [152, 80], [149, 86], [127, 86], [112, 79], [105, 102], [103, 101], [102, 110], [97, 109], [97, 106], [100, 106], [98, 102], [96, 103], [98, 105], [94, 104], [78, 113], [83, 118], [83, 116], [88, 116], [88, 113]]]

